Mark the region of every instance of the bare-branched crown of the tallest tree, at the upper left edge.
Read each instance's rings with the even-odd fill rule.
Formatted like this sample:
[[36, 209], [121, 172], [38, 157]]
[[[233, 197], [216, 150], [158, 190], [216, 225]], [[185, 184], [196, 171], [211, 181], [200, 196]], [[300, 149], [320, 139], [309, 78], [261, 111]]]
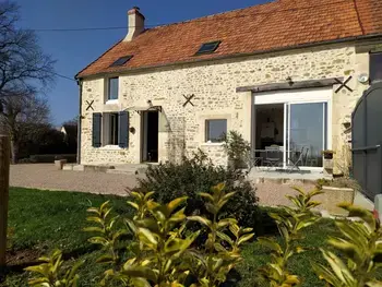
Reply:
[[37, 86], [45, 88], [55, 80], [55, 61], [43, 52], [33, 31], [16, 27], [19, 20], [15, 3], [0, 2], [0, 106], [9, 97], [23, 98], [25, 93], [37, 91]]

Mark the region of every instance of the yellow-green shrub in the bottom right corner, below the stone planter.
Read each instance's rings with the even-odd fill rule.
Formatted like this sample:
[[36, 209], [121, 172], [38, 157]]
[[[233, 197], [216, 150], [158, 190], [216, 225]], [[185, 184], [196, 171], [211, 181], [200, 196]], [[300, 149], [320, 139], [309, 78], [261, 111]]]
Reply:
[[357, 206], [342, 204], [339, 207], [349, 212], [349, 216], [359, 222], [337, 220], [336, 226], [342, 237], [333, 237], [327, 243], [342, 258], [327, 249], [321, 249], [329, 266], [312, 263], [315, 273], [327, 286], [333, 287], [380, 287], [375, 276], [382, 267], [382, 227], [378, 219]]

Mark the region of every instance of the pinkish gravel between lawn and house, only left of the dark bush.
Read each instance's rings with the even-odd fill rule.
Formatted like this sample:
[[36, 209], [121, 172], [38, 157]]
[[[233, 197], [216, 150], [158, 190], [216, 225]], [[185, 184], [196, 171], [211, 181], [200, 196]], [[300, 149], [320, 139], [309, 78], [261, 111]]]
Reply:
[[12, 187], [44, 190], [82, 191], [124, 195], [126, 188], [136, 184], [135, 176], [94, 171], [58, 170], [53, 164], [11, 166]]

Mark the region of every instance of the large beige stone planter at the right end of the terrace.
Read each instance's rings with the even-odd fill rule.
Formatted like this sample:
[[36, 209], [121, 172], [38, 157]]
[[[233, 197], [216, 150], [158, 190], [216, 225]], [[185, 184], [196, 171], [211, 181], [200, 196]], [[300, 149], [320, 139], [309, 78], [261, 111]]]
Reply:
[[339, 203], [354, 203], [355, 190], [349, 188], [333, 188], [323, 186], [322, 191], [323, 200], [321, 201], [321, 207], [326, 210], [332, 215], [347, 216], [348, 212], [338, 207]]

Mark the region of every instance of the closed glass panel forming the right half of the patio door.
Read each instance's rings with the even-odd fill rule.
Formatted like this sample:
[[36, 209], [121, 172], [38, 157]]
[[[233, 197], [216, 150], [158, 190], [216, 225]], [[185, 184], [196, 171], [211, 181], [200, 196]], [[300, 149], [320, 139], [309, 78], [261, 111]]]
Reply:
[[321, 152], [326, 148], [327, 103], [285, 104], [284, 163], [300, 158], [299, 166], [323, 167]]

